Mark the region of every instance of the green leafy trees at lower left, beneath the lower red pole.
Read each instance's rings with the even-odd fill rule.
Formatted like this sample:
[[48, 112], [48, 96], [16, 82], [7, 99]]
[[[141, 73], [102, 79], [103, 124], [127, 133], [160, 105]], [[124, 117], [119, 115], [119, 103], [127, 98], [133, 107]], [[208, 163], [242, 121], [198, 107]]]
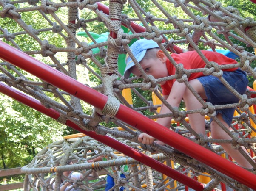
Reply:
[[[43, 147], [62, 138], [65, 126], [0, 94], [0, 169], [28, 164]], [[4, 162], [4, 163], [3, 163]]]

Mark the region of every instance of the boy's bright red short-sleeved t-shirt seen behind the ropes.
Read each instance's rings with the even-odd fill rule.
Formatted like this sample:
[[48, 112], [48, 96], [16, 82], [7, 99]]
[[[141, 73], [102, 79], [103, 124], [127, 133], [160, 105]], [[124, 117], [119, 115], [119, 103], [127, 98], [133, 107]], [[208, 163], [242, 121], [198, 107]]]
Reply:
[[[218, 63], [219, 65], [224, 64], [236, 64], [237, 61], [233, 60], [231, 58], [228, 58], [227, 56], [212, 52], [209, 50], [201, 50], [201, 52], [205, 55], [205, 57], [208, 59], [208, 61], [214, 61]], [[206, 66], [205, 62], [202, 60], [202, 58], [199, 56], [199, 54], [196, 51], [188, 51], [185, 53], [180, 54], [171, 54], [171, 57], [174, 58], [177, 64], [181, 63], [183, 64], [184, 69], [196, 69], [196, 68], [204, 68]], [[169, 60], [166, 62], [166, 67], [168, 69], [169, 75], [175, 75], [176, 68], [174, 65], [171, 64]], [[223, 69], [223, 71], [235, 71], [237, 68], [230, 68], [230, 69]], [[203, 72], [197, 72], [192, 73], [189, 78], [189, 80], [193, 80], [196, 78], [199, 78], [201, 76], [204, 76]], [[171, 92], [171, 88], [174, 84], [176, 79], [167, 81], [164, 85], [161, 85], [162, 87], [162, 93], [163, 95], [169, 95]]]

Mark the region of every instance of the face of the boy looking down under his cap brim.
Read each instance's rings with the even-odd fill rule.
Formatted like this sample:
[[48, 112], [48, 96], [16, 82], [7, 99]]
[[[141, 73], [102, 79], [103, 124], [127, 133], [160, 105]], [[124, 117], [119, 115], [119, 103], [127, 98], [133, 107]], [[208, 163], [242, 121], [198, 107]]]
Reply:
[[[163, 61], [161, 58], [156, 57], [155, 59], [142, 59], [139, 64], [147, 75], [152, 75], [155, 79], [168, 76], [168, 70], [166, 68], [165, 61]], [[134, 75], [142, 77], [141, 72], [139, 71], [139, 69], [137, 69], [136, 66], [132, 67], [130, 71]], [[165, 84], [165, 81], [159, 84], [163, 85]]]

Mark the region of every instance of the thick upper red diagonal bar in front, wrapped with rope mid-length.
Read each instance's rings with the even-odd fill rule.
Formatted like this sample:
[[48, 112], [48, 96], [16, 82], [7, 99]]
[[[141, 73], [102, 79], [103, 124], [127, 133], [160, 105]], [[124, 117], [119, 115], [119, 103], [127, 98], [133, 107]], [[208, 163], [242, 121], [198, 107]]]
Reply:
[[[31, 56], [17, 50], [8, 44], [0, 41], [0, 58], [8, 61], [15, 66], [45, 80], [48, 83], [68, 92], [77, 98], [103, 109], [108, 97], [78, 82], [60, 71], [57, 71], [46, 64], [32, 58]], [[213, 169], [226, 174], [227, 176], [247, 185], [256, 190], [256, 175], [235, 165], [234, 163], [222, 158], [221, 156], [205, 149], [204, 147], [188, 140], [187, 138], [175, 133], [166, 127], [148, 119], [136, 111], [120, 105], [116, 115], [117, 119], [148, 133], [149, 135], [161, 140], [165, 144], [178, 149], [179, 151], [205, 163]]]

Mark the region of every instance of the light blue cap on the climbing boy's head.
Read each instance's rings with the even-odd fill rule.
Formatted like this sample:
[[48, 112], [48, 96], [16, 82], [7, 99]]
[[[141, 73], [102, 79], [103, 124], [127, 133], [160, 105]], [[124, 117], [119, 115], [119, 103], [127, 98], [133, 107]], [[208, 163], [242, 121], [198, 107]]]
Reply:
[[[158, 44], [154, 40], [147, 40], [147, 39], [140, 39], [134, 42], [131, 45], [130, 50], [133, 53], [134, 57], [138, 62], [142, 61], [148, 49], [151, 48], [159, 48]], [[132, 61], [131, 57], [127, 54], [125, 58], [125, 72], [124, 77], [125, 79], [129, 78], [131, 72], [130, 69], [135, 66], [134, 62]]]

